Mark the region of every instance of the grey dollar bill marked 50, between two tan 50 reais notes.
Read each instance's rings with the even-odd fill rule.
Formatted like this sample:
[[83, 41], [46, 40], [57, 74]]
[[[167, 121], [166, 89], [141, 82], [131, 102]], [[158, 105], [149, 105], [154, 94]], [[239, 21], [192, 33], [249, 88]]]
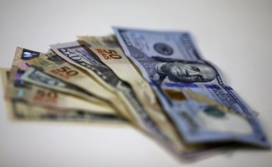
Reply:
[[51, 48], [66, 61], [83, 68], [90, 75], [96, 77], [97, 81], [104, 85], [105, 88], [115, 91], [120, 96], [120, 99], [124, 101], [129, 113], [135, 118], [133, 125], [143, 129], [153, 137], [156, 136], [154, 138], [165, 144], [168, 149], [176, 150], [176, 146], [173, 146], [173, 141], [169, 139], [167, 134], [163, 133], [157, 123], [150, 117], [150, 114], [146, 112], [131, 86], [119, 79], [110, 68], [105, 66], [98, 57], [95, 57], [96, 55], [90, 49], [87, 49], [79, 42], [54, 44], [51, 45]]

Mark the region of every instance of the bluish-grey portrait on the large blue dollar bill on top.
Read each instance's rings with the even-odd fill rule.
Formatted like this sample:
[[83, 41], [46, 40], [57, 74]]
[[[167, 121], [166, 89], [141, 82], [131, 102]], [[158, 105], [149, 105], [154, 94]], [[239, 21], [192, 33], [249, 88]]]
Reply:
[[[135, 59], [146, 69], [150, 79], [160, 85], [163, 80], [167, 79], [174, 83], [192, 84], [195, 82], [213, 81], [217, 71], [213, 66], [202, 62], [175, 60], [165, 57], [148, 56], [135, 47], [128, 49], [133, 53]], [[159, 51], [170, 53], [169, 49]]]

